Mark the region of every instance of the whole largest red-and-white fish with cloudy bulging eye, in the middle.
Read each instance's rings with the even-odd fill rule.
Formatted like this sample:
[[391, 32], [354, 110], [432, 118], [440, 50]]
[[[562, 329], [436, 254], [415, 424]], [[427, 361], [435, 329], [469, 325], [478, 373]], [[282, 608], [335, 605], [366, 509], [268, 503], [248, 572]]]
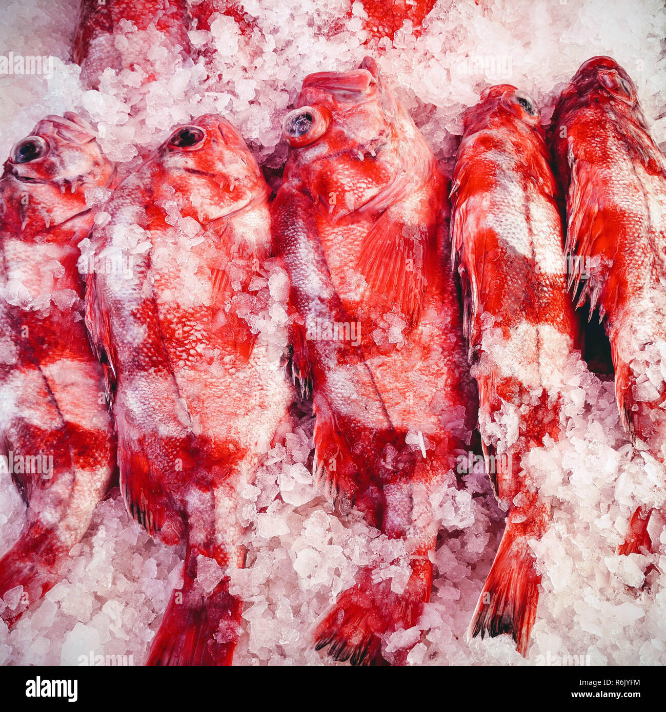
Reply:
[[[313, 391], [314, 470], [341, 511], [354, 503], [387, 537], [405, 540], [412, 569], [400, 593], [376, 582], [372, 567], [361, 570], [315, 640], [335, 659], [382, 664], [385, 636], [414, 626], [430, 598], [431, 496], [455, 482], [476, 412], [449, 268], [446, 182], [371, 58], [358, 70], [309, 75], [298, 106], [306, 108], [291, 115], [316, 120], [303, 145], [291, 137], [274, 236], [300, 321], [293, 372]], [[400, 347], [386, 318], [402, 319]], [[360, 339], [319, 338], [317, 320], [360, 323]], [[410, 430], [421, 432], [427, 456], [405, 443]]]

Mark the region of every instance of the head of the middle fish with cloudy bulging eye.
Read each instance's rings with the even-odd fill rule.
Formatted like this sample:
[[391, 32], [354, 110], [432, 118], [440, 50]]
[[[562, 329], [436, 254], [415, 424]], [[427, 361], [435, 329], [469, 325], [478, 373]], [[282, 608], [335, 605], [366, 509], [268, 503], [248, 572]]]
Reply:
[[286, 178], [333, 219], [370, 204], [407, 169], [402, 114], [370, 57], [355, 70], [308, 75], [283, 121]]

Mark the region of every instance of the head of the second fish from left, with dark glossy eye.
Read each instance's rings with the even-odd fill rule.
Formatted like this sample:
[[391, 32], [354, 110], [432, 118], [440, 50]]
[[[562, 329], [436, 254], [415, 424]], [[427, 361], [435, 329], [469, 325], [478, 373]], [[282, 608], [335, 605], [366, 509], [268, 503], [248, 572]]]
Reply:
[[156, 156], [162, 184], [183, 197], [180, 211], [202, 225], [268, 199], [269, 188], [243, 137], [227, 120], [199, 116], [175, 129]]

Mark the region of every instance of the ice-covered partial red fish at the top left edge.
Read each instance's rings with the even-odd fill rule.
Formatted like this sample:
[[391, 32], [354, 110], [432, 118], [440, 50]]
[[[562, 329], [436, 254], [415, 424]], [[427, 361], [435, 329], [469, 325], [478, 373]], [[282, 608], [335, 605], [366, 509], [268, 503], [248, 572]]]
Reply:
[[81, 0], [72, 58], [81, 66], [84, 85], [97, 88], [108, 67], [116, 72], [142, 68], [149, 78], [152, 75], [154, 62], [160, 60], [149, 60], [146, 48], [136, 54], [131, 41], [125, 47], [116, 42], [125, 23], [134, 23], [138, 30], [155, 26], [173, 52], [189, 54], [187, 0]]

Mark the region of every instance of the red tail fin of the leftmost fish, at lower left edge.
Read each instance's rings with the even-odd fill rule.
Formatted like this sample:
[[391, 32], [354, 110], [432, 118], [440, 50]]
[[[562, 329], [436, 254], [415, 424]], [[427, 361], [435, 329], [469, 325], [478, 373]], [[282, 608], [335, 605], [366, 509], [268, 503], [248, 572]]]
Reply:
[[58, 582], [66, 551], [52, 529], [38, 524], [28, 526], [19, 540], [0, 559], [0, 598], [18, 586], [23, 592], [14, 607], [7, 607], [0, 616], [9, 625], [15, 624], [28, 606], [36, 603]]

